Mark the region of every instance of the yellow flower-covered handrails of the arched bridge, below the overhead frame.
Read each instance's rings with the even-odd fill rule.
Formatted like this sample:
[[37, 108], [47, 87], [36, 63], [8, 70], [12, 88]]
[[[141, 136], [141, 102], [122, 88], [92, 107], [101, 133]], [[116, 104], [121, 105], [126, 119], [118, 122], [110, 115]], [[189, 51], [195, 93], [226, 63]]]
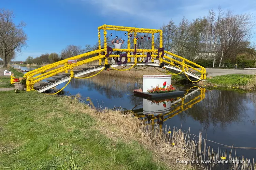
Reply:
[[[158, 56], [158, 55], [156, 55], [158, 50], [137, 49], [137, 53], [142, 53], [142, 55], [137, 55], [137, 54], [129, 55], [129, 53], [133, 52], [134, 49], [113, 49], [113, 52], [114, 51], [127, 52], [128, 53], [128, 55], [127, 55], [128, 62], [127, 63], [131, 63], [130, 59], [134, 58], [134, 65], [136, 65], [136, 63], [137, 63], [137, 58], [147, 57], [147, 55], [146, 55], [147, 52], [152, 53], [151, 54], [151, 57], [152, 57], [151, 62], [154, 62], [154, 60], [157, 59], [156, 57]], [[57, 75], [61, 72], [67, 72], [68, 70], [71, 70], [74, 67], [81, 66], [81, 65], [86, 64], [86, 63], [91, 63], [91, 62], [97, 61], [97, 60], [99, 61], [99, 65], [101, 65], [102, 58], [107, 59], [107, 58], [111, 58], [111, 57], [119, 57], [119, 55], [113, 55], [113, 54], [111, 54], [109, 57], [105, 57], [105, 55], [101, 55], [102, 52], [106, 53], [106, 49], [95, 50], [95, 51], [92, 51], [92, 52], [80, 54], [80, 55], [77, 55], [77, 56], [74, 56], [74, 57], [71, 57], [71, 58], [67, 58], [65, 60], [62, 60], [62, 61], [59, 61], [59, 62], [56, 62], [56, 63], [53, 63], [53, 64], [43, 66], [41, 68], [38, 68], [38, 69], [35, 69], [35, 70], [32, 70], [32, 71], [26, 73], [24, 75], [24, 77], [27, 78], [27, 91], [33, 90], [33, 85], [35, 83], [38, 83], [38, 82], [40, 82], [44, 79], [50, 78], [50, 77], [52, 77], [54, 75]], [[80, 59], [82, 57], [90, 56], [90, 55], [97, 54], [97, 53], [99, 55], [88, 58], [88, 59], [85, 59], [85, 60], [82, 60], [82, 61], [79, 61], [75, 64], [68, 64], [68, 60], [77, 60], [77, 59]], [[171, 57], [168, 57], [168, 56], [164, 56], [163, 58], [166, 58], [166, 59], [168, 59], [172, 62], [168, 62], [168, 61], [164, 60], [162, 57], [159, 57], [158, 59], [159, 59], [160, 62], [171, 64], [171, 65], [175, 65], [174, 63], [180, 64], [183, 67], [182, 71], [188, 71], [188, 68], [191, 68], [191, 69], [194, 69], [194, 70], [201, 73], [201, 79], [206, 78], [206, 76], [205, 76], [206, 70], [205, 70], [204, 67], [199, 66], [196, 63], [193, 63], [193, 62], [187, 60], [186, 58], [177, 56], [177, 55], [172, 54], [170, 52], [165, 51], [165, 53], [167, 53], [169, 55], [173, 55], [176, 58], [179, 58], [180, 60], [182, 60], [182, 62], [180, 62], [178, 60], [175, 60], [175, 59], [173, 59]], [[108, 60], [105, 60], [104, 64], [109, 64]], [[197, 69], [197, 68], [194, 68], [193, 66], [191, 66], [191, 64], [197, 66], [200, 70]], [[59, 67], [59, 68], [57, 68], [57, 67]]]

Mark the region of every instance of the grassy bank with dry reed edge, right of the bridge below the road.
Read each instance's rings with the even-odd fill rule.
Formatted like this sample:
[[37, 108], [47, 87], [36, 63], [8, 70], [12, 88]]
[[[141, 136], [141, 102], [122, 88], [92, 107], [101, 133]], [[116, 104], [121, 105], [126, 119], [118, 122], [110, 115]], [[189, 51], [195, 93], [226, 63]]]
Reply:
[[256, 90], [256, 75], [248, 74], [228, 74], [218, 75], [212, 79], [207, 79], [204, 82], [199, 82], [198, 85], [205, 86], [222, 86], [229, 88], [242, 88], [245, 90]]

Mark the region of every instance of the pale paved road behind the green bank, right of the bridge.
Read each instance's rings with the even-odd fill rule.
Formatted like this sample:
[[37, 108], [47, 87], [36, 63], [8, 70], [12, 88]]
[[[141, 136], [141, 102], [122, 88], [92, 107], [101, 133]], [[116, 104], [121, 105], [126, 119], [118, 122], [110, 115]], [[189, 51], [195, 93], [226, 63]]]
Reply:
[[226, 75], [226, 74], [256, 74], [256, 69], [217, 69], [217, 68], [207, 68], [206, 72], [209, 73], [207, 77], [214, 77], [216, 75]]

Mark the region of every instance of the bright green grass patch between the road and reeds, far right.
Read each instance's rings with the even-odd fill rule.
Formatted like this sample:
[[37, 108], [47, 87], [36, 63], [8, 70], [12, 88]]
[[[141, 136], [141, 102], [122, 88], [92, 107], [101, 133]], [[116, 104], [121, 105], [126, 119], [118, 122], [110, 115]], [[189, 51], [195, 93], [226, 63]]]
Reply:
[[224, 86], [245, 86], [252, 77], [253, 75], [247, 74], [218, 75], [212, 79], [207, 79], [207, 83]]

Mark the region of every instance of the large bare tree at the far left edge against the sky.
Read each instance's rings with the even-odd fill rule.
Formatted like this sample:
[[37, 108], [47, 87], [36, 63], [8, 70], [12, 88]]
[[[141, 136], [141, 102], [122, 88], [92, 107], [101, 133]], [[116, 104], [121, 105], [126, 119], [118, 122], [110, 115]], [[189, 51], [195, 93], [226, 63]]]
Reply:
[[[6, 68], [13, 51], [21, 52], [22, 48], [27, 47], [27, 35], [23, 28], [26, 24], [21, 21], [18, 25], [13, 22], [13, 11], [0, 9], [0, 53], [4, 61], [3, 67]], [[9, 57], [9, 58], [8, 58]]]

